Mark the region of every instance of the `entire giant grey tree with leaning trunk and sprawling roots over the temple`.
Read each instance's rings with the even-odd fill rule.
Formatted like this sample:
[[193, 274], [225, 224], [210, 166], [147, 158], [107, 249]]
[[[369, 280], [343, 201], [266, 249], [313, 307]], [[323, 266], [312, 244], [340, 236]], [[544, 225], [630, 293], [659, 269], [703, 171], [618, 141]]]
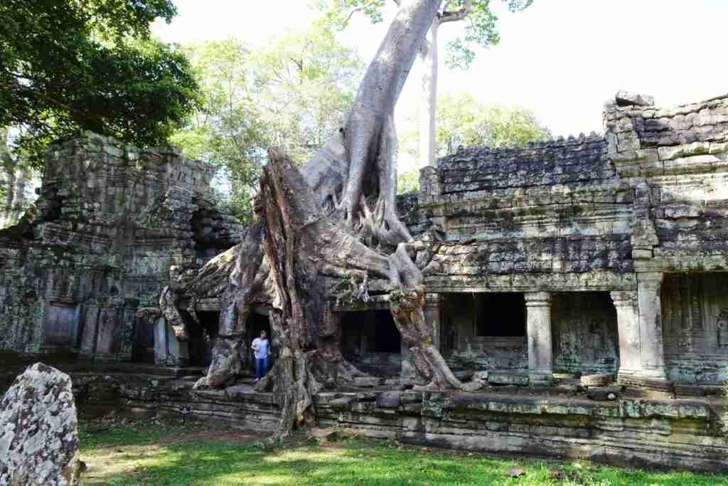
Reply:
[[[256, 390], [277, 397], [279, 435], [314, 420], [318, 391], [350, 384], [360, 374], [341, 356], [339, 315], [331, 307], [337, 297], [331, 282], [341, 278], [379, 279], [398, 289], [389, 295], [392, 315], [412, 348], [419, 377], [430, 388], [462, 387], [432, 346], [422, 311], [422, 273], [412, 261], [414, 243], [395, 211], [394, 107], [439, 7], [440, 0], [403, 2], [344, 128], [302, 171], [282, 152], [269, 151], [253, 227], [223, 296], [214, 351], [220, 358], [199, 384], [219, 386], [234, 377], [250, 302], [265, 283], [280, 356]], [[379, 246], [384, 251], [372, 249]]]

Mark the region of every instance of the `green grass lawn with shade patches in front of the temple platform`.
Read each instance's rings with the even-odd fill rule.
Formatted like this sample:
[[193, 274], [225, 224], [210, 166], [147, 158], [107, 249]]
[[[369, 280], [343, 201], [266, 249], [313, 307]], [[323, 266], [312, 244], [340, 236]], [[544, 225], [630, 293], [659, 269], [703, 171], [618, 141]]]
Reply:
[[[349, 439], [331, 445], [288, 444], [264, 450], [256, 444], [200, 439], [153, 444], [147, 436], [115, 445], [112, 436], [100, 450], [126, 447], [114, 457], [124, 471], [108, 471], [82, 485], [726, 485], [728, 477], [686, 472], [652, 473], [603, 468], [589, 463], [507, 460], [481, 455], [423, 452], [381, 441]], [[104, 439], [104, 437], [99, 437]], [[92, 446], [93, 447], [93, 446]], [[123, 449], [122, 449], [123, 450]], [[89, 447], [84, 460], [95, 455]], [[509, 478], [507, 469], [525, 471]]]

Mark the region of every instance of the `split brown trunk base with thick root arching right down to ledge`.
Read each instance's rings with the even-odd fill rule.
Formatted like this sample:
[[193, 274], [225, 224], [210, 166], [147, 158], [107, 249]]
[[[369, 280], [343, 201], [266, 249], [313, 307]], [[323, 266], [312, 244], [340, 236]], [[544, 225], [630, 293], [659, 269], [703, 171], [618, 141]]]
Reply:
[[392, 315], [413, 349], [419, 375], [429, 380], [430, 388], [461, 388], [432, 346], [432, 326], [422, 312], [422, 273], [409, 256], [408, 243], [400, 243], [389, 256], [365, 246], [326, 215], [296, 164], [277, 150], [269, 151], [261, 200], [262, 246], [280, 309], [272, 324], [281, 353], [256, 389], [277, 396], [282, 434], [313, 420], [318, 391], [346, 384], [352, 376], [341, 358], [340, 323], [327, 287], [331, 277], [363, 273], [405, 289], [390, 294]]

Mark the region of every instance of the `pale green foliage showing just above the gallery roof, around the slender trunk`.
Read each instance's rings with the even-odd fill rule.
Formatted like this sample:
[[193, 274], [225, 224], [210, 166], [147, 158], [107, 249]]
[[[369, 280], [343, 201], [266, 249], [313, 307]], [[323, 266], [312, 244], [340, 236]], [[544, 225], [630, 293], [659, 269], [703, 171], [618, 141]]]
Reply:
[[[400, 147], [414, 157], [419, 149], [418, 119], [418, 112], [408, 117], [408, 127], [400, 139]], [[548, 137], [548, 128], [527, 109], [480, 103], [467, 93], [446, 93], [438, 98], [435, 131], [438, 157], [454, 153], [461, 145], [519, 147]]]

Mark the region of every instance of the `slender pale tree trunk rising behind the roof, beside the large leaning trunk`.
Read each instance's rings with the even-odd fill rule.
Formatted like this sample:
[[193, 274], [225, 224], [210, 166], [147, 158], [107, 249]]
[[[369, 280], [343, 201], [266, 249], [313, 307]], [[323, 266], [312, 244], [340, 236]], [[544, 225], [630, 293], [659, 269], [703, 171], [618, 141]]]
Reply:
[[422, 105], [419, 111], [419, 167], [435, 167], [437, 142], [435, 130], [438, 111], [438, 29], [440, 20], [435, 17], [430, 33], [420, 47], [424, 72], [422, 73]]

